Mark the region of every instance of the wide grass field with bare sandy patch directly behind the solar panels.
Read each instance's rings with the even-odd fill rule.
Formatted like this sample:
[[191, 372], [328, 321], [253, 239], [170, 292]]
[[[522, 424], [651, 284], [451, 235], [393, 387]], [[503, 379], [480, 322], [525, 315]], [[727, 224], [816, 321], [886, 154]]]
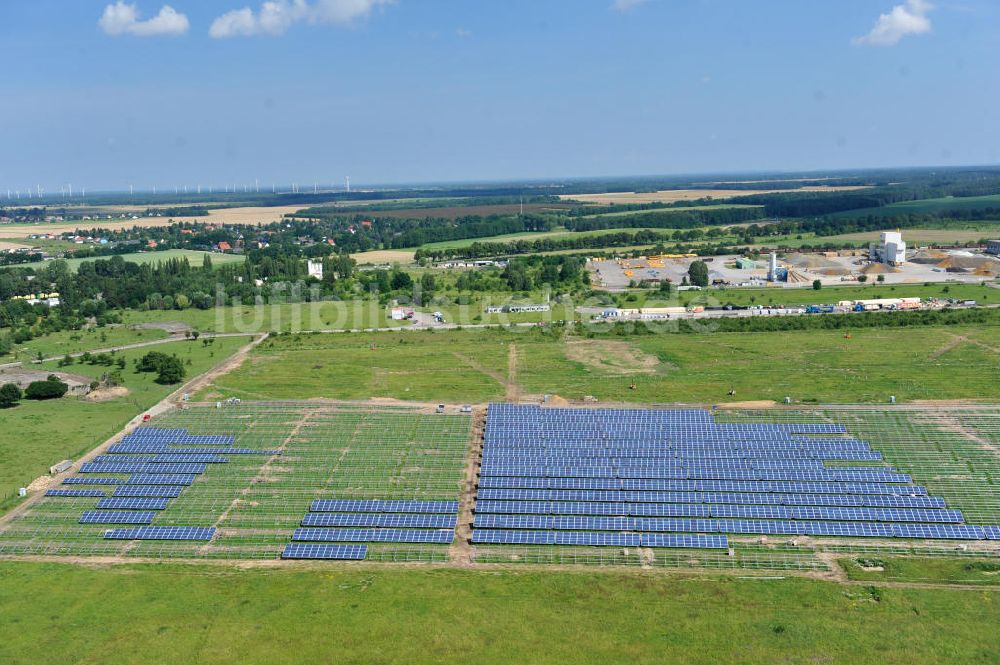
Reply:
[[726, 402], [731, 389], [736, 400], [995, 400], [998, 347], [1000, 328], [961, 326], [861, 329], [849, 339], [836, 330], [592, 340], [536, 329], [282, 336], [209, 393], [482, 402], [504, 395], [513, 375], [524, 394], [637, 403]]

